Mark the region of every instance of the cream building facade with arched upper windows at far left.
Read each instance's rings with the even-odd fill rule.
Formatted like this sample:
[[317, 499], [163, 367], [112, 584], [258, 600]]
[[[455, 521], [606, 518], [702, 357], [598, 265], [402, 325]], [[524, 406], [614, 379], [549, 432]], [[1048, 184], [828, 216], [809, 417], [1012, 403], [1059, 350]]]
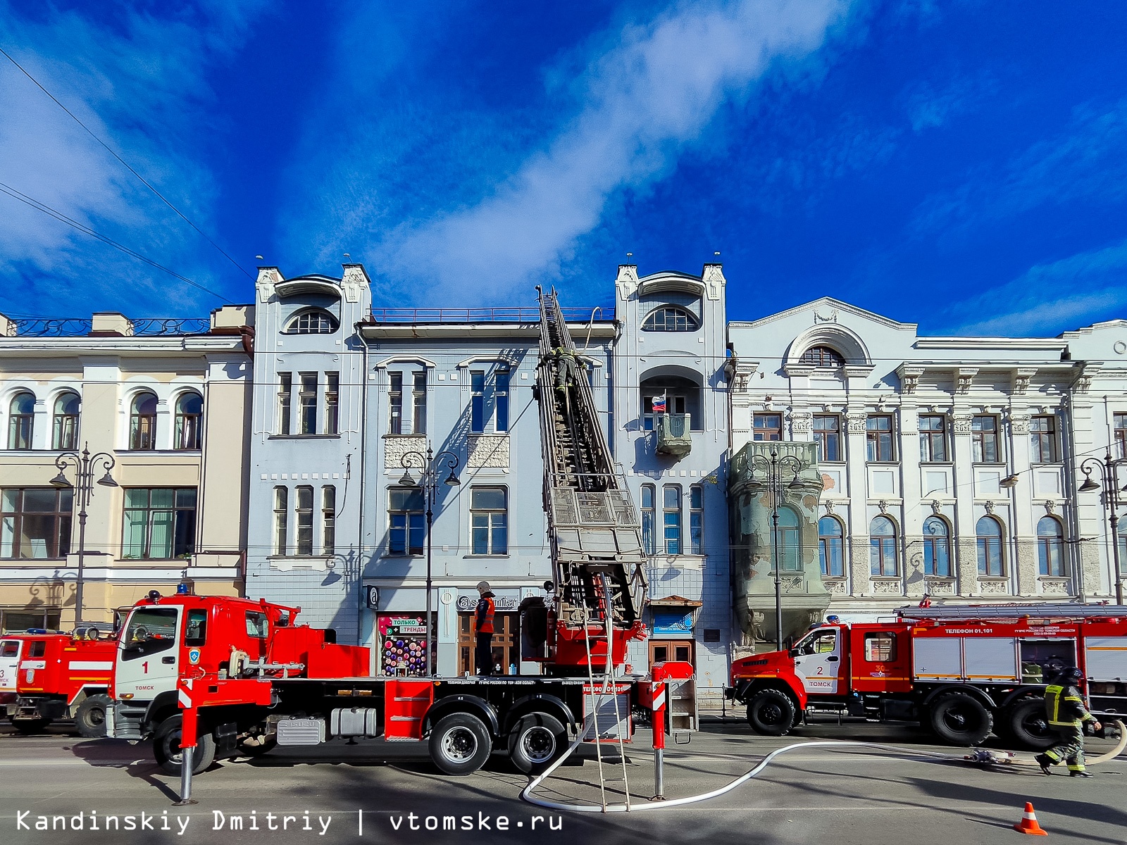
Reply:
[[184, 581], [241, 593], [252, 324], [0, 317], [0, 630], [73, 626], [85, 450], [82, 621]]

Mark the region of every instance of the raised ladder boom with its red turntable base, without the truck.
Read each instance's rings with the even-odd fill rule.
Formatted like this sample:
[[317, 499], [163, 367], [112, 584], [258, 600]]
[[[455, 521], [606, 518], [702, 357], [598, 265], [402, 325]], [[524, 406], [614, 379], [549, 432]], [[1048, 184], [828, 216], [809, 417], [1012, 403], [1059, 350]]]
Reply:
[[536, 398], [556, 596], [545, 662], [554, 674], [568, 674], [592, 657], [621, 664], [627, 640], [645, 637], [646, 557], [633, 501], [611, 457], [556, 291], [536, 291]]

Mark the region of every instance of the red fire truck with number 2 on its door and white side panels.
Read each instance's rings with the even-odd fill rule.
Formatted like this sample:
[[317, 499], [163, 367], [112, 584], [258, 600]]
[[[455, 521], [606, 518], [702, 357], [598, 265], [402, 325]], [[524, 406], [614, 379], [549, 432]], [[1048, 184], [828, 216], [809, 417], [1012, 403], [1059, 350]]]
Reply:
[[1080, 604], [902, 608], [895, 622], [823, 624], [788, 651], [736, 660], [729, 700], [757, 733], [783, 736], [807, 711], [916, 721], [944, 742], [994, 731], [1033, 749], [1050, 674], [1077, 666], [1097, 715], [1127, 713], [1127, 607]]

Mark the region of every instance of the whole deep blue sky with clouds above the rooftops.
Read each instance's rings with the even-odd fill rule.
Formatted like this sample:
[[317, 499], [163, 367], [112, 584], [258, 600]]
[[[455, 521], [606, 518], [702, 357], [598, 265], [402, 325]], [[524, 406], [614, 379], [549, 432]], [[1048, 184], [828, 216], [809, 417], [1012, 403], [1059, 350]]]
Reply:
[[[0, 183], [236, 302], [259, 264], [380, 305], [605, 304], [721, 254], [728, 312], [925, 333], [1127, 315], [1127, 5], [44, 3], [0, 46]], [[0, 194], [0, 311], [222, 300]]]

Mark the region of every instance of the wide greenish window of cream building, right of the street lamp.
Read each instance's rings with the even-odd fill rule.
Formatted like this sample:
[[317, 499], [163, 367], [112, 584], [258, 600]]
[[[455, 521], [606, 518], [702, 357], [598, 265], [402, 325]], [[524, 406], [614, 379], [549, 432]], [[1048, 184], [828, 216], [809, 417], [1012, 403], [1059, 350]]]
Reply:
[[123, 558], [170, 560], [195, 551], [196, 488], [131, 487], [125, 490]]

